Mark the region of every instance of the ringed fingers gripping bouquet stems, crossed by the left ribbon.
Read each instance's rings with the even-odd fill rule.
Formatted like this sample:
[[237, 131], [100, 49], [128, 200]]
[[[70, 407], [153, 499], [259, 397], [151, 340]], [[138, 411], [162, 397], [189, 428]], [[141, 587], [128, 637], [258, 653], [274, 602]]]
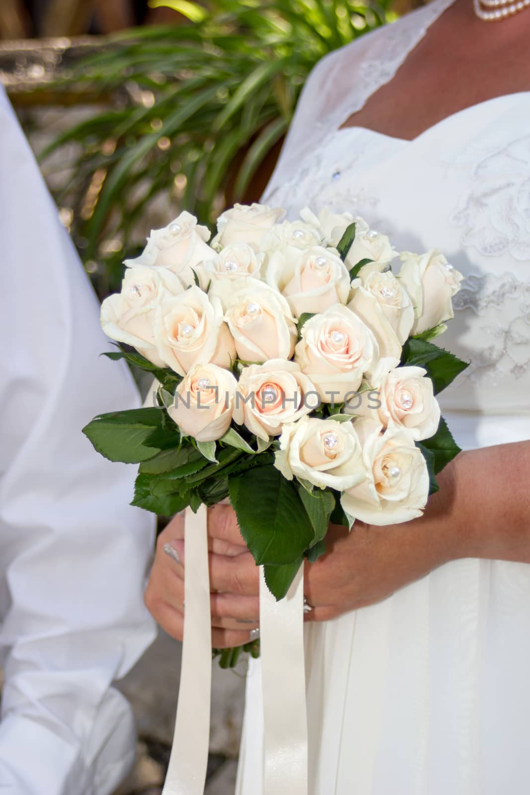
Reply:
[[[208, 510], [208, 549], [212, 646], [242, 646], [250, 640], [250, 630], [259, 626], [259, 576], [231, 506]], [[184, 518], [177, 515], [157, 539], [145, 604], [178, 640], [184, 633], [184, 570]]]

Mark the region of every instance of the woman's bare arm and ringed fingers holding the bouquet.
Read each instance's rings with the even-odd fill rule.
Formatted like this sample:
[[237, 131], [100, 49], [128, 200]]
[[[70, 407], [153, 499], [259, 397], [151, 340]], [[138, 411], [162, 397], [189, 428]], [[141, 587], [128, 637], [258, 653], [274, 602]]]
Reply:
[[[324, 621], [385, 599], [432, 569], [465, 557], [530, 563], [530, 441], [460, 453], [439, 475], [440, 490], [421, 518], [389, 527], [356, 522], [351, 533], [332, 525], [327, 554], [307, 564], [305, 594]], [[244, 642], [241, 620], [257, 617], [258, 576], [230, 506], [210, 512], [212, 616], [215, 646]], [[159, 540], [146, 601], [164, 629], [181, 637], [184, 566], [162, 552], [179, 550], [180, 520]], [[222, 545], [230, 543], [230, 555]], [[241, 545], [241, 546], [237, 546]], [[241, 553], [234, 555], [234, 551]], [[237, 619], [237, 620], [234, 620]]]

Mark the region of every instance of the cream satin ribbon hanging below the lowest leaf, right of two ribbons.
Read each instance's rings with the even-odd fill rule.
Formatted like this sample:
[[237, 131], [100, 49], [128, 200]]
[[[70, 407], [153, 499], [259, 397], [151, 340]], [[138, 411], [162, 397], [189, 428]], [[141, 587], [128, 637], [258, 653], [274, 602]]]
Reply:
[[307, 795], [308, 718], [305, 700], [304, 564], [280, 602], [260, 567], [263, 682], [263, 795]]

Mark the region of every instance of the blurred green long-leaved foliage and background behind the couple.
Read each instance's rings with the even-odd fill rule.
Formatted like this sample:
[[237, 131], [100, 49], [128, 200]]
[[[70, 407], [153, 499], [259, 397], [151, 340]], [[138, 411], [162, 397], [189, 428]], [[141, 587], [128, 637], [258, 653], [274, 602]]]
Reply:
[[[60, 6], [68, 33], [117, 32], [43, 42], [41, 72], [29, 57], [6, 82], [29, 131], [41, 118], [29, 107], [70, 111], [41, 163], [100, 297], [181, 209], [211, 225], [258, 200], [313, 65], [396, 16], [389, 0], [48, 0], [29, 14], [34, 32], [60, 33]], [[154, 24], [128, 28], [142, 21]]]

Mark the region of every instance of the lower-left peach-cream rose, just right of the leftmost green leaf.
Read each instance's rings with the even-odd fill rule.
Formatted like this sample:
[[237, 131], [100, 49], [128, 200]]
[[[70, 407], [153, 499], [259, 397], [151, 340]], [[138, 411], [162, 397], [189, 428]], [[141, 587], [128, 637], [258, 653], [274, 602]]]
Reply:
[[198, 442], [220, 439], [230, 426], [238, 382], [215, 364], [195, 364], [176, 388], [168, 414]]

